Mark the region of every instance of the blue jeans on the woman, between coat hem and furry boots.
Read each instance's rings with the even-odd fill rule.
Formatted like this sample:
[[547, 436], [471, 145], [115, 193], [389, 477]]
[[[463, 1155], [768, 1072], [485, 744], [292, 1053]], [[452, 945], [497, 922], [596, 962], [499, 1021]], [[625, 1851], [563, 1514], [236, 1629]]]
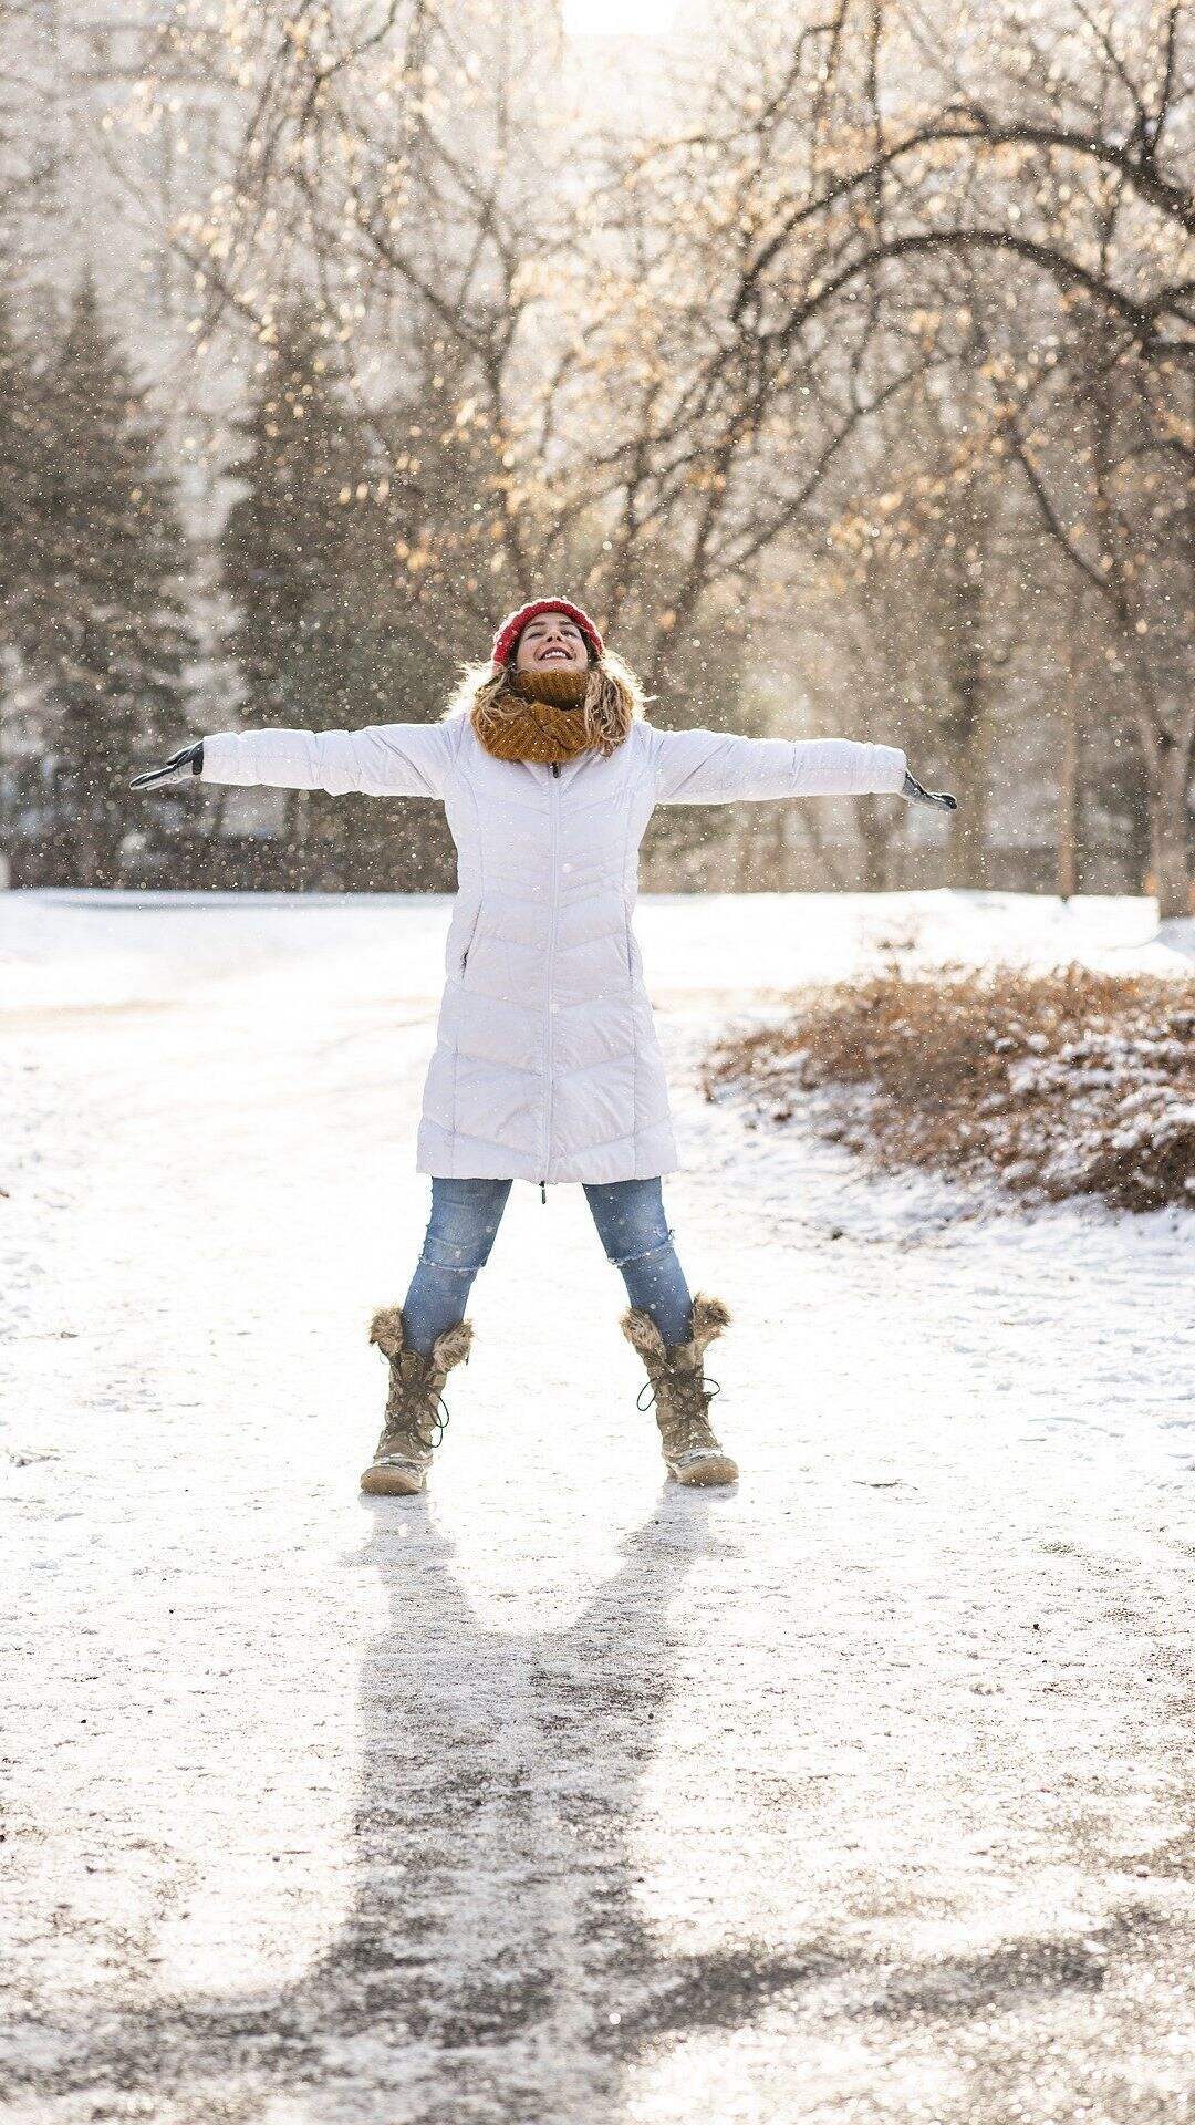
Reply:
[[[659, 1177], [583, 1182], [606, 1258], [623, 1273], [627, 1298], [655, 1320], [666, 1343], [685, 1343], [693, 1300], [663, 1216]], [[432, 1177], [432, 1218], [402, 1318], [410, 1347], [427, 1356], [444, 1328], [464, 1320], [466, 1298], [489, 1250], [512, 1182]]]

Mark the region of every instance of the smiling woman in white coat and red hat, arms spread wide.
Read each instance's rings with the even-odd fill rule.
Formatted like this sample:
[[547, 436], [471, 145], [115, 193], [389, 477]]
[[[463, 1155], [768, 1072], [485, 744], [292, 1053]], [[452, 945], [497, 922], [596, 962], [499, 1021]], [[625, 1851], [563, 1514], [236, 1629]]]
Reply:
[[389, 1400], [361, 1490], [425, 1488], [449, 1422], [442, 1388], [472, 1343], [468, 1292], [515, 1179], [538, 1182], [544, 1203], [549, 1182], [580, 1182], [623, 1273], [619, 1326], [644, 1362], [668, 1473], [731, 1483], [702, 1364], [731, 1313], [689, 1294], [663, 1213], [661, 1175], [678, 1158], [632, 931], [638, 846], [659, 803], [889, 790], [953, 810], [953, 799], [923, 790], [895, 746], [657, 731], [634, 672], [563, 597], [512, 612], [438, 722], [223, 731], [134, 786], [185, 774], [436, 797], [457, 846], [417, 1143], [432, 1218], [402, 1307], [381, 1307], [370, 1324]]

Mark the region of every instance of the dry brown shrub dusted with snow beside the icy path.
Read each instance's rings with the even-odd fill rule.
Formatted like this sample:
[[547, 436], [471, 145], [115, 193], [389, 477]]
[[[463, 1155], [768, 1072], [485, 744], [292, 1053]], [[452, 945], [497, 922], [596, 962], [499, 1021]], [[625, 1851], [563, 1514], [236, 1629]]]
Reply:
[[1195, 1209], [1195, 980], [940, 967], [793, 1001], [710, 1050], [706, 1099], [782, 1124], [804, 1094], [823, 1135], [885, 1169]]

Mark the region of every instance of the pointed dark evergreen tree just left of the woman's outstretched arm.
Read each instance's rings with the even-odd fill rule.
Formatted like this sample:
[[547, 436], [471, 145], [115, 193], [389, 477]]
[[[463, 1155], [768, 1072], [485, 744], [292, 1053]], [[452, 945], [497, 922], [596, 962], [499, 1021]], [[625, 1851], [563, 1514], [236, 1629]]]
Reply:
[[38, 572], [26, 654], [47, 680], [53, 801], [70, 876], [106, 886], [121, 839], [145, 829], [130, 765], [185, 733], [189, 555], [159, 434], [87, 272], [45, 387]]

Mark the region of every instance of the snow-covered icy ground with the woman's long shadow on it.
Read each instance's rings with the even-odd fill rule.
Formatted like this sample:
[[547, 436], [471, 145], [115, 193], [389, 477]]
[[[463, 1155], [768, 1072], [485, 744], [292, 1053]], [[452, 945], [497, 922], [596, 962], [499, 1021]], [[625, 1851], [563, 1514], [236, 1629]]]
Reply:
[[691, 1092], [876, 952], [1144, 901], [646, 899], [734, 1494], [517, 1186], [366, 1507], [447, 901], [0, 897], [0, 2091], [21, 2125], [1195, 2119], [1195, 1220], [874, 1182]]

